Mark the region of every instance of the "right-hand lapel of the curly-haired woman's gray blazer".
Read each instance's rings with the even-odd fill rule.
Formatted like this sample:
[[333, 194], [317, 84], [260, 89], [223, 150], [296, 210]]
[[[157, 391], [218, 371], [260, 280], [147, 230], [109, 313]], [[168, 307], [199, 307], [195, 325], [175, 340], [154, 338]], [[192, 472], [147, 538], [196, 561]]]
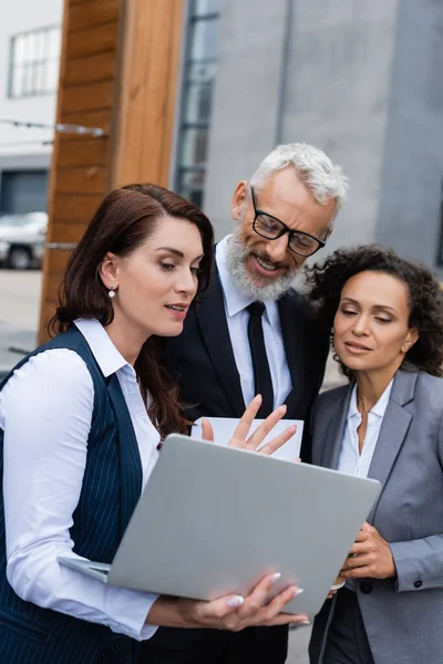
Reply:
[[373, 521], [384, 486], [406, 437], [412, 415], [403, 406], [414, 397], [416, 378], [416, 373], [406, 373], [403, 371], [399, 371], [395, 375], [391, 397], [384, 413], [379, 439], [368, 473], [368, 477], [378, 479], [382, 486], [379, 498], [368, 517], [368, 521]]

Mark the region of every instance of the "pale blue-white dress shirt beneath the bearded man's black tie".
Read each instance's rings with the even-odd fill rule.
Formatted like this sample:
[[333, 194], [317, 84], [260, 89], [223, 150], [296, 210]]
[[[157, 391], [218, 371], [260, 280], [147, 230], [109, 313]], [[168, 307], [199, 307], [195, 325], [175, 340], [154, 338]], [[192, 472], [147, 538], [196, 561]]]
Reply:
[[[216, 262], [222, 281], [225, 311], [228, 323], [234, 357], [240, 376], [241, 392], [245, 405], [255, 397], [254, 369], [248, 341], [249, 312], [246, 308], [254, 302], [253, 298], [241, 294], [229, 274], [227, 263], [227, 236], [216, 247]], [[277, 302], [265, 302], [266, 311], [262, 314], [262, 330], [266, 353], [274, 390], [274, 407], [280, 406], [292, 388], [291, 377], [286, 360], [284, 340], [281, 336], [280, 317]]]

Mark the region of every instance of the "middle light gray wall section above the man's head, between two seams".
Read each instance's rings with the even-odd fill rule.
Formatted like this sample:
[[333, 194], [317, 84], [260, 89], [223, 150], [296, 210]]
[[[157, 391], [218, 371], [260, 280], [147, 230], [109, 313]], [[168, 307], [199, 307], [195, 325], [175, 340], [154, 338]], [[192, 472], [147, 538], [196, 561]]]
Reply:
[[350, 178], [329, 248], [375, 236], [398, 0], [296, 0], [282, 142], [322, 149]]

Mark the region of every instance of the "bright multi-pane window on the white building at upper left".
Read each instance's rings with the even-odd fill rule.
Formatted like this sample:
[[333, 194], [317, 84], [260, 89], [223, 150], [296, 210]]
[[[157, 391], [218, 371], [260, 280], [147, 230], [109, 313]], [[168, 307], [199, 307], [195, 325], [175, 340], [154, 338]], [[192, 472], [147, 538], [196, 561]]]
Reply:
[[59, 84], [60, 48], [59, 25], [12, 37], [9, 97], [55, 93]]

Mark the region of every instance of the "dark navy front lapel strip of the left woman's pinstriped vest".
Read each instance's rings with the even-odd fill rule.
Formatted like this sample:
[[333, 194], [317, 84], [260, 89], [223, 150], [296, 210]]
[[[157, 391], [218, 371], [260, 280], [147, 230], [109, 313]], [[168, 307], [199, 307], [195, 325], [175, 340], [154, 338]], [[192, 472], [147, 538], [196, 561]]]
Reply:
[[119, 426], [121, 471], [120, 522], [123, 535], [142, 492], [143, 470], [131, 415], [116, 374], [112, 374], [110, 377], [107, 393], [114, 407]]

